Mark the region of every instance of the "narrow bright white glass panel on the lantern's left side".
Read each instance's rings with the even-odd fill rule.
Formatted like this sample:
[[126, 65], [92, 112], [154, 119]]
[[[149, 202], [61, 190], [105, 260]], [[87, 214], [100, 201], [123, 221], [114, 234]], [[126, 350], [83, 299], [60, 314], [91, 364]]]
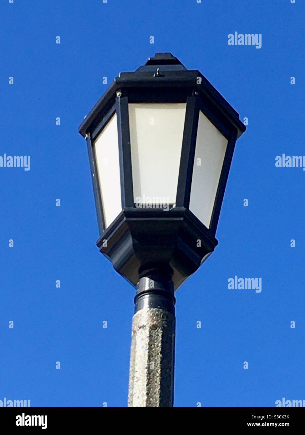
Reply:
[[122, 210], [116, 114], [94, 141], [94, 151], [107, 228]]

